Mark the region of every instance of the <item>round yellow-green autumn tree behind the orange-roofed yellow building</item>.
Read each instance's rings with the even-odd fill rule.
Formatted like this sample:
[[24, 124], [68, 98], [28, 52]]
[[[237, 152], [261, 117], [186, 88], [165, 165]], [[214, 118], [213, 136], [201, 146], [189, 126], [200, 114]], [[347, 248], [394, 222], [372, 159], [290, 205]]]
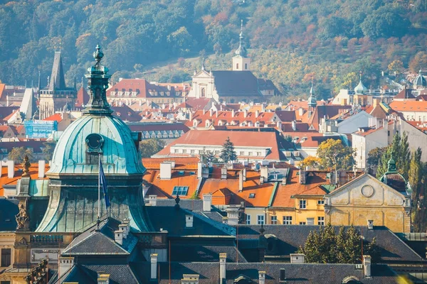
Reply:
[[324, 169], [351, 170], [354, 165], [354, 150], [342, 145], [341, 140], [327, 139], [317, 148], [320, 166]]

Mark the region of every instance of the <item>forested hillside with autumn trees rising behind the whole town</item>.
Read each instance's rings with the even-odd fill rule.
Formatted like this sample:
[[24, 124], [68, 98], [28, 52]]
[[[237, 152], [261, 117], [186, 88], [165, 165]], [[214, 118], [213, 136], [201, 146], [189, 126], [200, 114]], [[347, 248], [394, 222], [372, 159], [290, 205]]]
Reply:
[[[284, 94], [307, 92], [312, 76], [327, 97], [381, 71], [427, 68], [426, 0], [31, 0], [1, 1], [0, 80], [50, 75], [53, 49], [66, 78], [85, 74], [97, 43], [118, 77], [189, 80], [199, 59], [229, 68], [241, 19], [256, 75]], [[392, 63], [392, 64], [391, 64]], [[152, 68], [167, 66], [165, 68]]]

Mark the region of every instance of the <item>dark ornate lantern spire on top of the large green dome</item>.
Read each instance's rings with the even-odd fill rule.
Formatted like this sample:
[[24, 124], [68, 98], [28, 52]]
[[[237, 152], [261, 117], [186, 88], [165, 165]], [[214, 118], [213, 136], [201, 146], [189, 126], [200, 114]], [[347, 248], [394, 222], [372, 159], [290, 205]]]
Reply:
[[107, 94], [105, 93], [108, 87], [108, 68], [101, 65], [101, 60], [104, 57], [100, 45], [96, 45], [96, 50], [93, 53], [95, 58], [95, 65], [88, 68], [88, 74], [85, 75], [88, 78], [88, 89], [89, 89], [89, 102], [87, 107], [83, 109], [83, 114], [112, 114], [110, 104], [107, 102]]

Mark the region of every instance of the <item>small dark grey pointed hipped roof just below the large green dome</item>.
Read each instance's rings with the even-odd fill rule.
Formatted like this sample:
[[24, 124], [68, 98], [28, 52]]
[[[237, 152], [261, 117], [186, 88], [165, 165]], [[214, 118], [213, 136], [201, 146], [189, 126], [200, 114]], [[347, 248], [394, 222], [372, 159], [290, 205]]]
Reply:
[[123, 244], [119, 245], [114, 240], [114, 231], [118, 230], [118, 224], [114, 219], [106, 219], [100, 224], [100, 230], [93, 226], [83, 234], [77, 236], [70, 245], [63, 251], [63, 255], [129, 255], [138, 239], [132, 233], [123, 239]]

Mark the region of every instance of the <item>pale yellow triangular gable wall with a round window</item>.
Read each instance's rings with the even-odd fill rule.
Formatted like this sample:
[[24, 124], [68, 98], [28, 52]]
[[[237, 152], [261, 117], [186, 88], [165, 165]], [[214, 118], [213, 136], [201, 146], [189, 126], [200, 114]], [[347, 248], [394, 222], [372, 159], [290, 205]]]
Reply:
[[325, 197], [325, 221], [333, 225], [387, 226], [394, 232], [409, 232], [411, 207], [408, 197], [369, 175], [354, 180]]

